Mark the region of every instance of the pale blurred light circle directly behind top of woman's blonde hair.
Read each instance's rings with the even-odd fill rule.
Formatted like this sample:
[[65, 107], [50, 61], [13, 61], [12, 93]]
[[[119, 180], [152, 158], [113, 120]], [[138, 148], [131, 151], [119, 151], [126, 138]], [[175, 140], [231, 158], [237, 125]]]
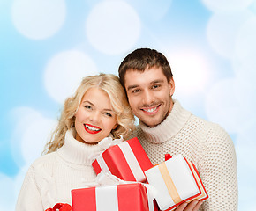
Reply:
[[89, 56], [79, 51], [64, 51], [49, 61], [44, 84], [50, 97], [63, 104], [74, 94], [83, 77], [96, 74], [96, 65]]

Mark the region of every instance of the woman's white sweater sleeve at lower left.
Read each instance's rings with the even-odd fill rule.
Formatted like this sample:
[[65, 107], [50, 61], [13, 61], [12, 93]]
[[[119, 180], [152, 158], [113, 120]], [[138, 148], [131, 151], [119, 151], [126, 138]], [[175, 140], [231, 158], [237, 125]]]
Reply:
[[31, 166], [21, 186], [16, 204], [16, 211], [43, 211], [41, 194], [34, 178], [34, 168]]

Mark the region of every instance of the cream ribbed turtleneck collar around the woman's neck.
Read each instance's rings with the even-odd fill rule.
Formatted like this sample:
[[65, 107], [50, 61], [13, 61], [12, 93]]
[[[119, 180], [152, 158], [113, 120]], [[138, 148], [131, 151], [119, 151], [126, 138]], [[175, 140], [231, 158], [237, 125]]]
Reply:
[[56, 151], [66, 162], [72, 164], [91, 165], [92, 155], [101, 151], [98, 144], [88, 144], [77, 141], [76, 131], [72, 128], [66, 132], [64, 145]]

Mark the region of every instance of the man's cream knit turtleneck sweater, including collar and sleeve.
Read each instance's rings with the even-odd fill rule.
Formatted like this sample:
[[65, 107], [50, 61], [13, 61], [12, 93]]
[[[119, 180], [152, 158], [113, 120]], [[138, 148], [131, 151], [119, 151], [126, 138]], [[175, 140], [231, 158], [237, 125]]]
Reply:
[[166, 120], [151, 128], [140, 122], [132, 136], [139, 138], [153, 164], [170, 153], [182, 154], [197, 166], [209, 195], [200, 210], [237, 210], [237, 158], [222, 127], [194, 116], [174, 100]]

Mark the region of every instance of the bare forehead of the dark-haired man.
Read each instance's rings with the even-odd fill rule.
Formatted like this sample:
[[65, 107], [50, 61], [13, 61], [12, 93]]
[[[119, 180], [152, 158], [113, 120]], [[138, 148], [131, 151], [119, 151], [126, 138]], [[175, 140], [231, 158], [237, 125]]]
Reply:
[[168, 83], [166, 76], [162, 72], [162, 69], [156, 67], [145, 69], [143, 72], [130, 69], [125, 73], [124, 76], [124, 86], [126, 89], [128, 86], [142, 86], [152, 84], [157, 81]]

